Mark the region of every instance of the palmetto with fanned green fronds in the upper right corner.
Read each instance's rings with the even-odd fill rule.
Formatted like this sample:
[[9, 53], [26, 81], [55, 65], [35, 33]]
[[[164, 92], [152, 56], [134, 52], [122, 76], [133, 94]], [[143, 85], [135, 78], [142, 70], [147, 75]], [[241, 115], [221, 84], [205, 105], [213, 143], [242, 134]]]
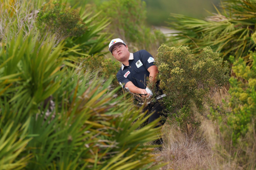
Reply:
[[255, 48], [251, 35], [256, 31], [256, 0], [224, 0], [221, 9], [205, 20], [172, 13], [169, 24], [181, 31], [180, 43], [198, 53], [210, 46], [225, 60], [233, 55], [249, 61], [248, 51]]

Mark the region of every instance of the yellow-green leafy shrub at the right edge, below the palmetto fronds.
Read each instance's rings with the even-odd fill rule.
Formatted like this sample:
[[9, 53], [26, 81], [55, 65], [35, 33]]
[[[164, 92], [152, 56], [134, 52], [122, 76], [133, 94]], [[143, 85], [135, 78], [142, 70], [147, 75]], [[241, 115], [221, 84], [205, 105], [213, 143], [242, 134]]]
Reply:
[[245, 137], [249, 125], [256, 120], [256, 52], [250, 52], [249, 59], [253, 61], [251, 68], [242, 58], [235, 61], [232, 69], [236, 77], [229, 79], [232, 113], [228, 116], [228, 125], [233, 129], [234, 144]]

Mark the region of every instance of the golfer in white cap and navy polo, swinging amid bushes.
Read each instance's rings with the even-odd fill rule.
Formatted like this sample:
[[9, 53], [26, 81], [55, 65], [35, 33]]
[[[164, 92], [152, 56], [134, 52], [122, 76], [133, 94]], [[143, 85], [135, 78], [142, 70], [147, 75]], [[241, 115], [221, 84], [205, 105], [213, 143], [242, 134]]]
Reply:
[[[150, 98], [153, 94], [146, 85], [146, 78], [149, 77], [149, 80], [155, 84], [156, 74], [158, 73], [152, 55], [146, 50], [130, 53], [128, 46], [122, 39], [112, 39], [109, 44], [109, 51], [115, 59], [122, 63], [117, 73], [119, 84], [123, 88], [128, 88], [131, 93]], [[147, 109], [149, 113], [155, 111], [149, 118], [148, 123], [163, 116], [161, 114], [163, 108], [158, 102], [147, 105]]]

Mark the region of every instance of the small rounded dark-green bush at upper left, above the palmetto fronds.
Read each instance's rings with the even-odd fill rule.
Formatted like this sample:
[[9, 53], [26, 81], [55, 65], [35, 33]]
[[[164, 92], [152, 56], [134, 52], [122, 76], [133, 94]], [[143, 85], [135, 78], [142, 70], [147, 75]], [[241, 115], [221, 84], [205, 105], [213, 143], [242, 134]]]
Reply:
[[42, 32], [55, 33], [59, 39], [69, 36], [81, 36], [86, 26], [74, 9], [65, 9], [64, 4], [50, 0], [41, 7], [36, 26]]

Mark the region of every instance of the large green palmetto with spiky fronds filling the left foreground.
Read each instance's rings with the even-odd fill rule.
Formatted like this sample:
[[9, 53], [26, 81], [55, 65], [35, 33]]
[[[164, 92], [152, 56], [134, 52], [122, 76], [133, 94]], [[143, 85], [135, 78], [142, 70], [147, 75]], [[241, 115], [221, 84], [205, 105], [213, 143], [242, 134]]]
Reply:
[[114, 98], [111, 79], [70, 70], [63, 43], [23, 35], [0, 47], [0, 169], [138, 170], [154, 161], [142, 144], [158, 138], [158, 120], [137, 130], [148, 116]]

